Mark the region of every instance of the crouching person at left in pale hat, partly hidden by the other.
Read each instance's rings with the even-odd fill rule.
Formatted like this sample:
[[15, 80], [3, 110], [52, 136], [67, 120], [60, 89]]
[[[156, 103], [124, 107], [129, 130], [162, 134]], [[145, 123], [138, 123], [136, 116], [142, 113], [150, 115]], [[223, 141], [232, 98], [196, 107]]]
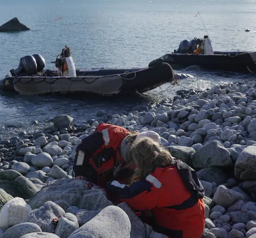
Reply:
[[130, 164], [127, 153], [138, 135], [149, 136], [160, 142], [160, 136], [153, 131], [138, 134], [120, 126], [100, 124], [76, 148], [73, 167], [75, 179], [87, 180], [101, 187], [114, 179], [128, 181], [134, 168], [126, 166]]

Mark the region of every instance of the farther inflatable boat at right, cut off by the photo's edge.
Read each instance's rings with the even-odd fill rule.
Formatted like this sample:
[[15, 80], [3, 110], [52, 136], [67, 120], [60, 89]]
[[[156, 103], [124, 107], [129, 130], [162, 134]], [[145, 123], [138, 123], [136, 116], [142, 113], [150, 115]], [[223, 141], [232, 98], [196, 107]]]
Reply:
[[208, 36], [204, 36], [204, 39], [194, 38], [190, 42], [183, 40], [177, 50], [160, 58], [174, 70], [198, 65], [209, 70], [256, 72], [256, 52], [213, 51]]

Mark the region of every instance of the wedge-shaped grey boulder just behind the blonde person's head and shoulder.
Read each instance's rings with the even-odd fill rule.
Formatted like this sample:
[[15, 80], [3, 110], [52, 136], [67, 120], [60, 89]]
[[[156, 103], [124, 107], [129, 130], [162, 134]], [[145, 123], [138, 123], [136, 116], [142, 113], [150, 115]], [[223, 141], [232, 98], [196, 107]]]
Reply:
[[190, 154], [196, 153], [193, 148], [186, 146], [166, 146], [164, 148], [168, 150], [172, 156], [182, 160], [182, 162], [186, 164], [188, 164], [188, 161], [190, 160]]

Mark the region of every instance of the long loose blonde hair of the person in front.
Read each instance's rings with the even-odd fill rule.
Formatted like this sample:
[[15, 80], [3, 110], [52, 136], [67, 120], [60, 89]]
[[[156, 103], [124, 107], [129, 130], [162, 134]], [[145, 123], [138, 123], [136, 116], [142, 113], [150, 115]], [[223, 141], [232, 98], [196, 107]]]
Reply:
[[137, 166], [130, 183], [143, 180], [156, 167], [166, 167], [172, 162], [172, 155], [160, 144], [148, 137], [136, 140], [128, 151], [128, 159]]

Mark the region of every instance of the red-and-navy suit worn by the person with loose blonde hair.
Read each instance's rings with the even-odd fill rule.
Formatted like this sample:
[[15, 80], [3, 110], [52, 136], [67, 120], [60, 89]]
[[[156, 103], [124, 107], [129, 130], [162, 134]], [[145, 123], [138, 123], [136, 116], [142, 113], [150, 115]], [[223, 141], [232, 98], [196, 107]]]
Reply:
[[175, 165], [156, 168], [146, 180], [134, 182], [129, 187], [113, 181], [107, 184], [106, 191], [133, 210], [150, 210], [154, 218], [151, 225], [159, 233], [172, 238], [201, 238], [205, 222], [204, 190], [194, 172], [190, 173], [194, 188], [188, 190], [188, 179], [184, 181], [182, 173]]

